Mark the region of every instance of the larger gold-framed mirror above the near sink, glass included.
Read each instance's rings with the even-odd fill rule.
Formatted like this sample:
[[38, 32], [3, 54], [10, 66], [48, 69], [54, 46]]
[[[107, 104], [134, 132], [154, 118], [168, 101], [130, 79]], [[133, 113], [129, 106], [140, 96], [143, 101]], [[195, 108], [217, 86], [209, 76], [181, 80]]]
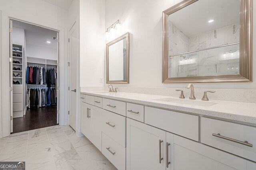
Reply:
[[252, 82], [252, 0], [183, 0], [162, 26], [162, 83]]

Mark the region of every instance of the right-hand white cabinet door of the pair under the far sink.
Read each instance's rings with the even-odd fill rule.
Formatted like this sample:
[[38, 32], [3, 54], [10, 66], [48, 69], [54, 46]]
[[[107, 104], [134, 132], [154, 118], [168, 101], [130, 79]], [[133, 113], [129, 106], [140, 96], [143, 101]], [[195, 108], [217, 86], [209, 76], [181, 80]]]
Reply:
[[88, 114], [90, 119], [90, 141], [101, 151], [103, 109], [91, 105], [89, 105], [88, 108]]

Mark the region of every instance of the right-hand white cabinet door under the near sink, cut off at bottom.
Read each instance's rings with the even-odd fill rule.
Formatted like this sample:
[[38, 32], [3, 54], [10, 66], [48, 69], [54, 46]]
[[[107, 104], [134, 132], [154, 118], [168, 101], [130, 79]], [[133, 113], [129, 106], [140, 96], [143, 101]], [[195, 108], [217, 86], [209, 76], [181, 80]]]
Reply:
[[246, 170], [246, 160], [238, 156], [171, 133], [166, 133], [168, 140], [174, 170]]

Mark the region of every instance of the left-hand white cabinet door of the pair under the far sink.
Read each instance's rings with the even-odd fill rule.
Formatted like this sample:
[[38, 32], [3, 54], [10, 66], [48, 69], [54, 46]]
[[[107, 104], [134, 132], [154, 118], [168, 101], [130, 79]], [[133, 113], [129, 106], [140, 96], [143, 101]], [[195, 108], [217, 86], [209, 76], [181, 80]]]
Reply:
[[89, 131], [90, 131], [90, 119], [88, 118], [88, 109], [90, 105], [81, 102], [81, 132], [86, 136], [88, 139], [89, 137]]

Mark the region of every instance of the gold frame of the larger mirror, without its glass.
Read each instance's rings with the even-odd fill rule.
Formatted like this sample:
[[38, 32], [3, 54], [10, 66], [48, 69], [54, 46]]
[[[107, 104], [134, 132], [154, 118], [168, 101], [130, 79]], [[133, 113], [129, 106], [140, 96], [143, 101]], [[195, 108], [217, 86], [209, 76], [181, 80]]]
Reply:
[[168, 16], [198, 0], [183, 0], [163, 12], [162, 83], [252, 82], [252, 0], [240, 0], [240, 74], [168, 78]]

